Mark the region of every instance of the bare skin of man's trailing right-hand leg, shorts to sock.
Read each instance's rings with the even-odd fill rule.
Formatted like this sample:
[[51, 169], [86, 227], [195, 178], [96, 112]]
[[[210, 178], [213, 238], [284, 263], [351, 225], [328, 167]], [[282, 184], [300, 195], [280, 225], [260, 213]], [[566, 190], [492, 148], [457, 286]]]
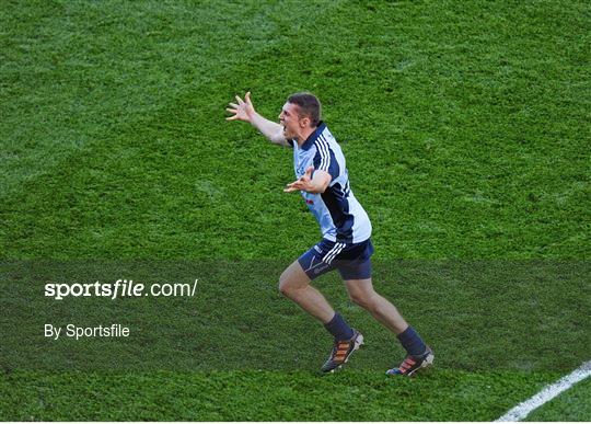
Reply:
[[371, 278], [348, 279], [345, 284], [350, 299], [370, 312], [395, 334], [399, 334], [408, 328], [408, 323], [401, 316], [396, 307], [375, 293], [371, 284]]

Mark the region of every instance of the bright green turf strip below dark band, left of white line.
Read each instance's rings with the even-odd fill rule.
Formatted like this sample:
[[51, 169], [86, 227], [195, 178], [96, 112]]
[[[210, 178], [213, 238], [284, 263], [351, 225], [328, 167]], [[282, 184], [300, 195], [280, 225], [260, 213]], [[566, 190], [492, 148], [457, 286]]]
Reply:
[[356, 371], [16, 374], [0, 382], [12, 388], [0, 404], [23, 421], [491, 421], [555, 376], [437, 370], [393, 385]]

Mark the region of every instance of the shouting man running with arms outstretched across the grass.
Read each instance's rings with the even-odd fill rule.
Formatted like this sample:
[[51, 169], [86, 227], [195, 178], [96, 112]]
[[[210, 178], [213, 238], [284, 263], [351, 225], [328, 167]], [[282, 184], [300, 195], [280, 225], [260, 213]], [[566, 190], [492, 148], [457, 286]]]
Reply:
[[279, 114], [279, 124], [256, 113], [247, 92], [244, 101], [230, 103], [228, 121], [251, 123], [276, 145], [293, 148], [297, 180], [285, 192], [300, 191], [316, 217], [323, 240], [287, 267], [279, 290], [320, 320], [334, 336], [334, 346], [324, 373], [340, 368], [363, 344], [363, 336], [335, 312], [311, 280], [338, 270], [350, 299], [368, 310], [396, 334], [407, 356], [389, 369], [389, 375], [413, 376], [433, 362], [432, 351], [410, 328], [396, 308], [373, 290], [371, 282], [371, 224], [366, 210], [349, 187], [345, 157], [326, 125], [321, 121], [321, 104], [310, 93], [289, 96]]

